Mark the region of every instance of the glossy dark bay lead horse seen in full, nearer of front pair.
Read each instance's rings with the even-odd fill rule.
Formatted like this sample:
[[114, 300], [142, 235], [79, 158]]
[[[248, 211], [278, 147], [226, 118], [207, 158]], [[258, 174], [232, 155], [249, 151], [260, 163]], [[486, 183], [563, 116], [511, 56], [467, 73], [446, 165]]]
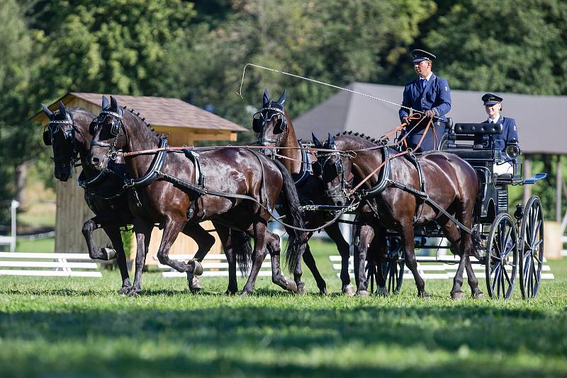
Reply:
[[[162, 137], [140, 117], [120, 108], [112, 96], [111, 105], [102, 110], [93, 134], [89, 164], [99, 170], [106, 166], [106, 158], [116, 156], [119, 149], [136, 152], [165, 145]], [[286, 290], [301, 291], [304, 287], [301, 282], [301, 232], [289, 230], [286, 260], [294, 274], [293, 282], [281, 274], [279, 238], [266, 230], [270, 215], [265, 208], [275, 205], [280, 195], [288, 223], [303, 227], [296, 188], [286, 168], [248, 149], [210, 149], [198, 151], [198, 154], [187, 151], [187, 154], [184, 151], [152, 151], [125, 158], [133, 179], [128, 204], [135, 216], [137, 239], [135, 290], [141, 288], [142, 267], [154, 224], [164, 228], [157, 251], [159, 262], [179, 272], [195, 273], [200, 269], [196, 260], [189, 263], [172, 260], [169, 249], [186, 224], [211, 220], [230, 265], [228, 292], [237, 291], [235, 258], [228, 250], [230, 229], [246, 231], [255, 239], [252, 270], [243, 294], [254, 290], [254, 282], [266, 256], [266, 244], [271, 245], [274, 282]]]

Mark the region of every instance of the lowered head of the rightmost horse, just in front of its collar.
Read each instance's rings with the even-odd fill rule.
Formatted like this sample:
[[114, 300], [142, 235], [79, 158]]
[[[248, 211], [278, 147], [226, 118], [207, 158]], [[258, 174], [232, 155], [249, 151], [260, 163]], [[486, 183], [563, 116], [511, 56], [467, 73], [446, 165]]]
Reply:
[[[313, 135], [315, 148], [331, 149], [332, 152], [318, 154], [318, 172], [325, 185], [325, 195], [331, 205], [344, 206], [349, 202], [349, 189], [352, 186], [352, 159], [350, 154], [337, 149], [335, 137], [329, 134], [325, 143]], [[315, 171], [315, 170], [314, 170]]]

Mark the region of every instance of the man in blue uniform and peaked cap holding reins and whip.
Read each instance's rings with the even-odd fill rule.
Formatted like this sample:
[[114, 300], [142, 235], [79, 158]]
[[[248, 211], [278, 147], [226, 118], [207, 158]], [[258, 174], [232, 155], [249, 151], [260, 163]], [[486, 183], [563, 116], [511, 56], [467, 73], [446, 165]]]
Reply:
[[[447, 122], [447, 118], [445, 115], [451, 110], [451, 89], [449, 89], [447, 80], [435, 76], [432, 72], [432, 61], [435, 59], [435, 55], [424, 50], [413, 50], [412, 56], [413, 67], [419, 77], [406, 84], [403, 90], [403, 107], [400, 108], [399, 114], [400, 121], [408, 124], [405, 127], [405, 132], [408, 133], [405, 140], [408, 142], [408, 147], [414, 149], [420, 142], [429, 122], [428, 119], [422, 120], [419, 126], [413, 128], [417, 121], [408, 121], [410, 116], [410, 109], [408, 108], [411, 108], [428, 118], [433, 118], [432, 126], [430, 126], [421, 144], [421, 151], [439, 149], [439, 144], [446, 134], [445, 122]], [[434, 130], [432, 130], [433, 127]]]

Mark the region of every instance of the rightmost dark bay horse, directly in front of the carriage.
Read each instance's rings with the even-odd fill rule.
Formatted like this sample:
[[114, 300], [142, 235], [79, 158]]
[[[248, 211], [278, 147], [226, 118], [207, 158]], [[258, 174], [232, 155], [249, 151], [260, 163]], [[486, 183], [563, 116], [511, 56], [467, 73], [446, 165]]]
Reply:
[[[411, 190], [424, 190], [429, 198], [437, 202], [442, 209], [465, 227], [472, 229], [478, 177], [476, 171], [466, 161], [459, 156], [445, 152], [435, 151], [422, 154], [417, 159], [425, 179], [425, 188], [422, 188], [417, 167], [403, 156], [390, 160], [389, 177], [386, 177], [386, 181], [382, 181], [380, 171], [383, 168], [380, 171], [376, 171], [376, 168], [381, 166], [387, 153], [393, 155], [398, 151], [376, 145], [369, 139], [352, 134], [339, 134], [336, 137], [329, 135], [329, 140], [321, 147], [337, 150], [337, 152], [318, 156], [322, 166], [323, 181], [327, 185], [327, 194], [332, 204], [344, 204], [351, 195], [349, 181], [346, 179], [351, 175], [354, 182], [364, 181], [370, 176], [363, 186], [366, 190], [376, 188], [378, 183], [386, 183], [381, 193], [376, 193], [372, 197], [361, 195], [361, 205], [357, 212], [361, 221], [369, 224], [376, 234], [380, 227], [393, 229], [400, 234], [405, 248], [405, 263], [415, 279], [418, 296], [427, 297], [428, 295], [425, 291], [425, 283], [417, 272], [413, 227], [414, 224], [437, 222], [453, 246], [451, 251], [458, 253], [461, 257], [454, 277], [451, 297], [454, 299], [463, 297], [461, 285], [464, 269], [466, 269], [468, 285], [471, 287], [473, 296], [483, 297], [483, 293], [478, 289], [478, 282], [469, 260], [471, 254], [478, 257], [471, 234], [457, 227], [445, 214], [430, 205], [430, 202], [419, 200], [415, 194], [411, 193]], [[359, 245], [359, 261], [365, 259], [366, 244], [361, 244]], [[366, 290], [364, 264], [359, 264], [355, 268], [357, 268], [356, 274], [359, 276], [359, 281], [364, 282], [359, 290]]]

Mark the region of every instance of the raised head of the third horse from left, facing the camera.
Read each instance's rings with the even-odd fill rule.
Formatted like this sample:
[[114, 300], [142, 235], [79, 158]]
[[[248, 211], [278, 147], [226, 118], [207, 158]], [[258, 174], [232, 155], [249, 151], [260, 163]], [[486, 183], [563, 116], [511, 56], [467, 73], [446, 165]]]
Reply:
[[[252, 130], [259, 133], [258, 142], [266, 147], [278, 147], [284, 134], [288, 131], [286, 114], [283, 105], [286, 103], [286, 90], [283, 90], [277, 101], [269, 98], [268, 90], [264, 91], [262, 110], [254, 114]], [[270, 156], [274, 149], [262, 149], [262, 153]]]

